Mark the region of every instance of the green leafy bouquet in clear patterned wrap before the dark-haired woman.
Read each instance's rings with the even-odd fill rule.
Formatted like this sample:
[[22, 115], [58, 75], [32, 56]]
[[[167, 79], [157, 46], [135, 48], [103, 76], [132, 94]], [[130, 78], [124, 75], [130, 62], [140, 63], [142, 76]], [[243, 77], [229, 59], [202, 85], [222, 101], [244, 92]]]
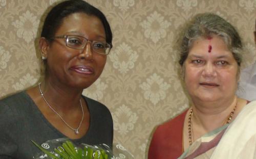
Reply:
[[32, 142], [41, 150], [41, 153], [33, 157], [35, 159], [134, 159], [134, 156], [120, 144], [114, 144], [112, 150], [106, 144], [75, 145], [65, 138], [49, 140], [41, 145]]

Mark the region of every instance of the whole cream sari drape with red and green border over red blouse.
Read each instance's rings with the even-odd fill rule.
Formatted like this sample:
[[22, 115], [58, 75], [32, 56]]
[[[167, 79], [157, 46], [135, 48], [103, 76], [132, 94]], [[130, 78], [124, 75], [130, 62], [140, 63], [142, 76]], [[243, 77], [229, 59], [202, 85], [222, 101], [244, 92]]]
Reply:
[[196, 140], [179, 159], [256, 158], [256, 101], [237, 118]]

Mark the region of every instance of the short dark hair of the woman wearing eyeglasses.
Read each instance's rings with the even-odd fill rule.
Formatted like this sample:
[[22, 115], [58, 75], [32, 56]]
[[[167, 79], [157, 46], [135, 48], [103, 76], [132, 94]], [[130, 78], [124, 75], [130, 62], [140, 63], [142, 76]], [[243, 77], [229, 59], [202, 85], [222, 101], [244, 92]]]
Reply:
[[51, 41], [51, 38], [55, 36], [57, 29], [62, 24], [63, 18], [77, 12], [98, 17], [105, 30], [106, 42], [112, 46], [112, 32], [105, 15], [99, 9], [82, 0], [64, 1], [54, 6], [46, 16], [42, 26], [41, 37]]

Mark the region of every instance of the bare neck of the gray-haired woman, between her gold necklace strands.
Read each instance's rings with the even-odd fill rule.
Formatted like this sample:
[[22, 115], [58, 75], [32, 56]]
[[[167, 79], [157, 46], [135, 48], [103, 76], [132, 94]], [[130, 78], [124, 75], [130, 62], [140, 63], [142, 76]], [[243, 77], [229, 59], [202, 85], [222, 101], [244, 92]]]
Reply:
[[193, 101], [193, 123], [209, 132], [224, 125], [237, 104], [237, 97], [218, 102]]

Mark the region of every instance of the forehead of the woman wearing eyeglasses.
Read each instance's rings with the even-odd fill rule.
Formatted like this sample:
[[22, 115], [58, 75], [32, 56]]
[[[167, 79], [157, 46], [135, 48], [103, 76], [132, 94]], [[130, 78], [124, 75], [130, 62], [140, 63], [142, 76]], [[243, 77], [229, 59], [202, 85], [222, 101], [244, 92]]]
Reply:
[[101, 20], [94, 15], [88, 15], [82, 12], [73, 13], [63, 18], [55, 34], [71, 32], [77, 32], [81, 36], [96, 34], [97, 36], [105, 37], [104, 26]]

